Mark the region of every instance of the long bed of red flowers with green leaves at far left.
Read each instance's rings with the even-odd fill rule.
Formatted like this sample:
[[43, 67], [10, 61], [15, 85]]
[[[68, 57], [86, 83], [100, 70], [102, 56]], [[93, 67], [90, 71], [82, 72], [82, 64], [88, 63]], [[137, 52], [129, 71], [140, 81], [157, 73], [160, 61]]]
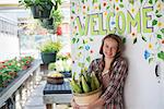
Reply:
[[0, 87], [5, 87], [8, 83], [16, 77], [17, 72], [26, 70], [33, 60], [32, 57], [22, 57], [0, 62]]

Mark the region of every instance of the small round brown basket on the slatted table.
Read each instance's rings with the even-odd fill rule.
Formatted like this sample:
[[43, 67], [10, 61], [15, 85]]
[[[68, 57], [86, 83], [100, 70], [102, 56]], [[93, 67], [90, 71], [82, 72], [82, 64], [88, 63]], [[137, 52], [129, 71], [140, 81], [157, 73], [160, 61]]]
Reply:
[[49, 83], [49, 84], [62, 84], [63, 83], [63, 77], [47, 76], [47, 83]]

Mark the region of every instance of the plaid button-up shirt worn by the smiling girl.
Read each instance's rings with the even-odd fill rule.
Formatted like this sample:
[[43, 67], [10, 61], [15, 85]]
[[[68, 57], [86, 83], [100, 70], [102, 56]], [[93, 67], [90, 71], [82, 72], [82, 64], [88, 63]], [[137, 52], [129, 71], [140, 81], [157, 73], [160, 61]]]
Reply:
[[115, 59], [113, 69], [107, 74], [103, 74], [103, 58], [95, 59], [89, 66], [89, 73], [95, 72], [99, 82], [103, 84], [101, 98], [105, 100], [106, 109], [124, 109], [124, 84], [127, 76], [128, 64], [124, 58]]

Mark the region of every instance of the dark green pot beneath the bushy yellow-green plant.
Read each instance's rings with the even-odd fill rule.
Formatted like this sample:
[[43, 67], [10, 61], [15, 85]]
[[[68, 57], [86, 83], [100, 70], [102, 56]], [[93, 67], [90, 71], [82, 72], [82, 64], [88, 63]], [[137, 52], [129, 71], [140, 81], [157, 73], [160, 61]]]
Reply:
[[44, 64], [56, 62], [56, 52], [42, 52]]

